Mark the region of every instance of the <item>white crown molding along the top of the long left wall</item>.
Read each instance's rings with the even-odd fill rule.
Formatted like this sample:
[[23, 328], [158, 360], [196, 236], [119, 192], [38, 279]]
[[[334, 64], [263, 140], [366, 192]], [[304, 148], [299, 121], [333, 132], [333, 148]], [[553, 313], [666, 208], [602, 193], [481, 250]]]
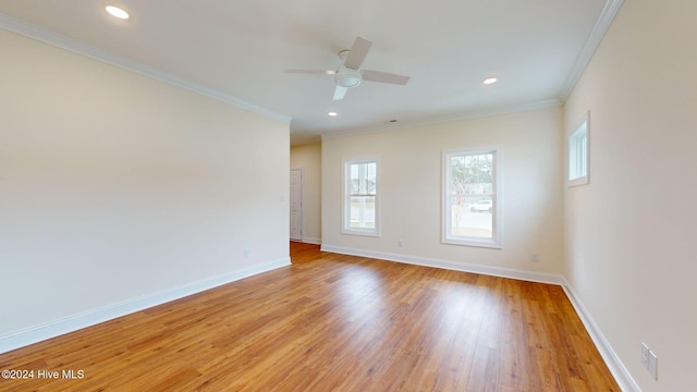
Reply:
[[245, 102], [234, 96], [219, 91], [217, 89], [200, 85], [184, 77], [176, 76], [174, 74], [158, 70], [156, 68], [145, 65], [135, 60], [126, 57], [110, 52], [108, 50], [99, 49], [95, 46], [78, 41], [68, 36], [58, 34], [50, 29], [36, 26], [34, 24], [24, 22], [16, 17], [0, 12], [0, 28], [10, 33], [14, 33], [27, 38], [32, 38], [39, 42], [50, 45], [56, 48], [68, 50], [70, 52], [84, 56], [86, 58], [120, 68], [125, 71], [136, 73], [138, 75], [149, 77], [169, 85], [183, 88], [198, 95], [216, 99], [218, 101], [245, 109], [265, 117], [281, 121], [290, 124], [291, 118], [283, 115], [268, 109]]

